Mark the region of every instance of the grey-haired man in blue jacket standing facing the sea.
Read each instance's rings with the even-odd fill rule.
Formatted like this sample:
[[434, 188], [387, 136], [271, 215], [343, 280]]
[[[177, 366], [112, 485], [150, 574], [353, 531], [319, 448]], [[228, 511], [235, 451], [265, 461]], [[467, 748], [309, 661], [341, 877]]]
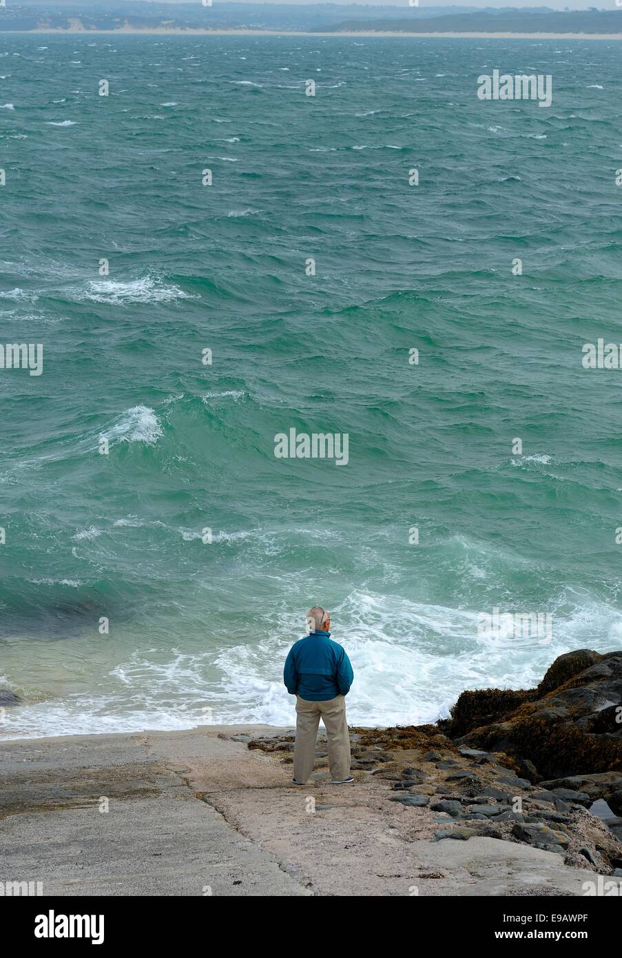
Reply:
[[313, 771], [318, 726], [322, 719], [328, 741], [332, 785], [353, 782], [345, 696], [354, 678], [345, 650], [330, 638], [330, 615], [321, 605], [307, 612], [309, 635], [289, 650], [283, 681], [296, 696], [295, 785], [304, 785]]

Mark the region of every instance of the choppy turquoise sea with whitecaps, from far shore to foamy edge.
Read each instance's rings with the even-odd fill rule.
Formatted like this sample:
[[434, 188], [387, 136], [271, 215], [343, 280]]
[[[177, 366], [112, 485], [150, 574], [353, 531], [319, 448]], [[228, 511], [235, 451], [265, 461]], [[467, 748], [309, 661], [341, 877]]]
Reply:
[[619, 44], [2, 40], [1, 341], [44, 346], [0, 370], [3, 737], [291, 723], [315, 603], [368, 724], [622, 648]]

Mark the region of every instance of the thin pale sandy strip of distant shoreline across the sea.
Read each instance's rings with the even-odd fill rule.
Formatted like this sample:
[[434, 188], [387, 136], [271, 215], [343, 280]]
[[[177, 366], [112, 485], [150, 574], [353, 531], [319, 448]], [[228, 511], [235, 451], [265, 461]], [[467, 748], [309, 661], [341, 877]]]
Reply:
[[405, 33], [403, 31], [332, 31], [330, 33], [313, 33], [302, 30], [204, 30], [202, 28], [175, 28], [175, 27], [120, 27], [118, 30], [86, 30], [80, 28], [37, 27], [35, 30], [2, 31], [7, 34], [88, 34], [88, 35], [153, 35], [153, 36], [365, 36], [365, 37], [416, 37], [425, 38], [445, 37], [446, 39], [464, 38], [478, 40], [622, 40], [622, 34], [487, 34], [487, 33]]

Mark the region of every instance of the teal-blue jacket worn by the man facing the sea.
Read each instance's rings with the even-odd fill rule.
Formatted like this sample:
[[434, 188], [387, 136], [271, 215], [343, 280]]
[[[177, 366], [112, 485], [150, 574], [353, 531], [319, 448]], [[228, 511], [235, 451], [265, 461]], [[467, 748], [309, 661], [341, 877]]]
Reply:
[[333, 642], [330, 632], [316, 629], [289, 650], [283, 681], [290, 696], [310, 702], [346, 696], [354, 678], [345, 650]]

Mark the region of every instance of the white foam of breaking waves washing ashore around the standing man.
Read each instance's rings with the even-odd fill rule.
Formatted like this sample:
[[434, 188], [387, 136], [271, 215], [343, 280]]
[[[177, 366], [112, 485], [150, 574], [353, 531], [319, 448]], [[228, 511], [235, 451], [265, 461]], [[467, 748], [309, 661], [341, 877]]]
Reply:
[[[76, 580], [38, 582], [80, 584]], [[533, 688], [564, 652], [622, 649], [619, 609], [571, 593], [549, 605], [551, 643], [525, 647], [511, 640], [478, 637], [474, 610], [351, 592], [331, 609], [332, 637], [344, 645], [355, 673], [347, 696], [350, 723], [433, 721], [446, 716], [465, 689]], [[301, 617], [275, 616], [269, 611], [264, 621], [255, 621], [252, 631], [233, 645], [201, 642], [200, 648], [197, 644], [184, 651], [145, 645], [142, 650], [121, 652], [122, 658], [105, 675], [108, 687], [104, 691], [100, 691], [98, 673], [97, 693], [85, 695], [80, 690], [33, 701], [8, 713], [0, 738], [189, 729], [236, 722], [291, 727], [294, 700], [283, 686], [282, 665], [293, 642], [303, 634]]]

